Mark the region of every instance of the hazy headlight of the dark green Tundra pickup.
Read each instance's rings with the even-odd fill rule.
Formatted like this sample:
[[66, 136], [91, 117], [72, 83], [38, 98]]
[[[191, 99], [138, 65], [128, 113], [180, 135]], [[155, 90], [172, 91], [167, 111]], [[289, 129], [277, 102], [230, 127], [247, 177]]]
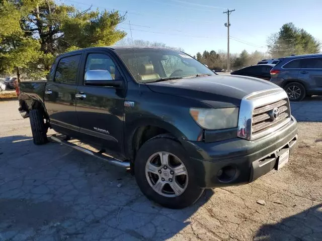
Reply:
[[239, 108], [197, 109], [191, 108], [190, 114], [196, 123], [207, 130], [237, 127]]

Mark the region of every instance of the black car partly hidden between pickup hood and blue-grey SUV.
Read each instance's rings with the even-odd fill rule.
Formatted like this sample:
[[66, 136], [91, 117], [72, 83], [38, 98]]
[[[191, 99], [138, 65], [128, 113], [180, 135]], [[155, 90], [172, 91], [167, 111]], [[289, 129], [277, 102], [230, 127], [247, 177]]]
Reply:
[[256, 78], [261, 78], [265, 80], [271, 79], [270, 71], [274, 67], [274, 64], [258, 64], [245, 67], [243, 69], [239, 69], [231, 72], [232, 75], [244, 75], [251, 76]]

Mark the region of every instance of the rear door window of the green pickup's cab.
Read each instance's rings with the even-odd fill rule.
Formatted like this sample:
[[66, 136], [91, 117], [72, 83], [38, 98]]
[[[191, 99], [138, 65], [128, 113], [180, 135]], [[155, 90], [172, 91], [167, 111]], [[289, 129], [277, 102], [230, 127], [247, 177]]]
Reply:
[[59, 60], [55, 82], [61, 84], [76, 84], [77, 69], [81, 55], [73, 55]]

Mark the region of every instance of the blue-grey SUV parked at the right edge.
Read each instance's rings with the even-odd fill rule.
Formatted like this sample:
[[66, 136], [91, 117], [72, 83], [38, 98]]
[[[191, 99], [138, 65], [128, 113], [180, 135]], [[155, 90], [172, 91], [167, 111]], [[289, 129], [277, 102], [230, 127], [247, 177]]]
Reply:
[[291, 101], [322, 94], [322, 54], [280, 58], [271, 70], [271, 82], [285, 89]]

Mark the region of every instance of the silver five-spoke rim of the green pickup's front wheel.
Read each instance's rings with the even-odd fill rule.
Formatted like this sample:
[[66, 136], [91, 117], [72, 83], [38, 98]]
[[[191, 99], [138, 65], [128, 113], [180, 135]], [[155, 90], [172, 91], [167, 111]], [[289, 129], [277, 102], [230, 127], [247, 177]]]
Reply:
[[150, 187], [165, 197], [180, 196], [188, 186], [186, 166], [169, 152], [157, 152], [148, 158], [145, 177]]

